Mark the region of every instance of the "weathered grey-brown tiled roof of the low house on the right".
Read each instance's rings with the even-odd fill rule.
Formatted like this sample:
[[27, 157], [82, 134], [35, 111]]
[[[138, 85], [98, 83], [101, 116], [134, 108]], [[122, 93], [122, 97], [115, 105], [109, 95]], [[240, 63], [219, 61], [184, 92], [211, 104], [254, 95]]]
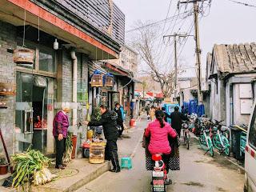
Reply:
[[214, 45], [217, 70], [226, 74], [256, 73], [256, 43]]

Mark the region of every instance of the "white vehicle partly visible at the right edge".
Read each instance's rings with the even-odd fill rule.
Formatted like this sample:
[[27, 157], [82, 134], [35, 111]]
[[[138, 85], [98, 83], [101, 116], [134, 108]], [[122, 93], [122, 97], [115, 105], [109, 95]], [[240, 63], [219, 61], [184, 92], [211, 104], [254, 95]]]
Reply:
[[256, 102], [250, 115], [245, 151], [245, 192], [256, 192]]

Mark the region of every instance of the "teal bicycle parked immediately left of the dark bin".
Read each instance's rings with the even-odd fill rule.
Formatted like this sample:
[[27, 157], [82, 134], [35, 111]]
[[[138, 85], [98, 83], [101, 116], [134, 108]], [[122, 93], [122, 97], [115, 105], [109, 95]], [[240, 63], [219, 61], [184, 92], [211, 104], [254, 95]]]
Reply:
[[213, 143], [214, 147], [220, 151], [220, 153], [225, 153], [230, 156], [230, 142], [227, 138], [227, 127], [220, 125], [220, 122], [215, 120], [215, 125], [213, 126]]

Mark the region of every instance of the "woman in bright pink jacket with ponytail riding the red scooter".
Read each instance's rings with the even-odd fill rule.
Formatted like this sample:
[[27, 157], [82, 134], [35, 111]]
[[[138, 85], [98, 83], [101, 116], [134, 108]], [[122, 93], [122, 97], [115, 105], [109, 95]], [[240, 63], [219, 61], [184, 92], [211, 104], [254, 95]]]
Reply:
[[150, 137], [149, 151], [150, 154], [163, 154], [162, 160], [166, 164], [166, 170], [168, 172], [168, 162], [170, 159], [170, 144], [168, 141], [168, 135], [175, 138], [177, 134], [173, 128], [170, 127], [168, 122], [164, 121], [165, 114], [162, 110], [155, 112], [156, 119], [154, 122], [150, 122], [145, 130], [145, 136]]

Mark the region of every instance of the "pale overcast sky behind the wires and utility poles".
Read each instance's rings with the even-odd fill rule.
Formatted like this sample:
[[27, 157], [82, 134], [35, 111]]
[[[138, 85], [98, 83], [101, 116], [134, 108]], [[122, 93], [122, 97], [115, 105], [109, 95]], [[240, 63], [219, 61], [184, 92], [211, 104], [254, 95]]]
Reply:
[[[206, 1], [206, 0], [205, 0]], [[256, 6], [256, 0], [237, 0], [240, 2], [247, 2]], [[126, 14], [126, 30], [134, 28], [134, 22], [137, 20], [146, 21], [159, 21], [166, 18], [170, 0], [114, 0], [118, 7]], [[173, 0], [168, 17], [174, 15], [177, 10], [177, 0]], [[184, 11], [183, 6], [180, 13]], [[190, 10], [190, 6], [186, 8]], [[206, 10], [206, 14], [208, 14]], [[178, 12], [176, 12], [177, 14]], [[210, 7], [210, 14], [202, 17], [199, 22], [200, 42], [202, 48], [202, 65], [206, 64], [206, 54], [211, 51], [214, 44], [234, 44], [245, 42], [256, 42], [256, 7], [242, 6], [228, 0], [212, 0]], [[182, 24], [184, 22], [184, 24]], [[176, 25], [174, 22], [166, 22], [164, 34], [170, 34], [174, 26], [173, 33], [176, 31], [187, 32], [190, 24], [193, 22], [193, 15], [184, 19], [178, 19]], [[162, 31], [163, 24], [158, 26]], [[181, 28], [180, 30], [178, 30]], [[168, 30], [170, 29], [170, 30]], [[190, 34], [194, 34], [194, 29]], [[160, 36], [160, 35], [159, 35]], [[129, 38], [129, 34], [126, 35]], [[159, 42], [162, 37], [159, 37]], [[162, 46], [161, 53], [165, 53], [162, 63], [169, 62], [173, 45]], [[166, 50], [164, 52], [164, 50]], [[181, 50], [181, 48], [180, 48]], [[182, 50], [181, 57], [186, 59], [187, 66], [194, 66], [194, 39], [189, 38], [186, 46]], [[164, 62], [166, 60], [166, 62]]]

